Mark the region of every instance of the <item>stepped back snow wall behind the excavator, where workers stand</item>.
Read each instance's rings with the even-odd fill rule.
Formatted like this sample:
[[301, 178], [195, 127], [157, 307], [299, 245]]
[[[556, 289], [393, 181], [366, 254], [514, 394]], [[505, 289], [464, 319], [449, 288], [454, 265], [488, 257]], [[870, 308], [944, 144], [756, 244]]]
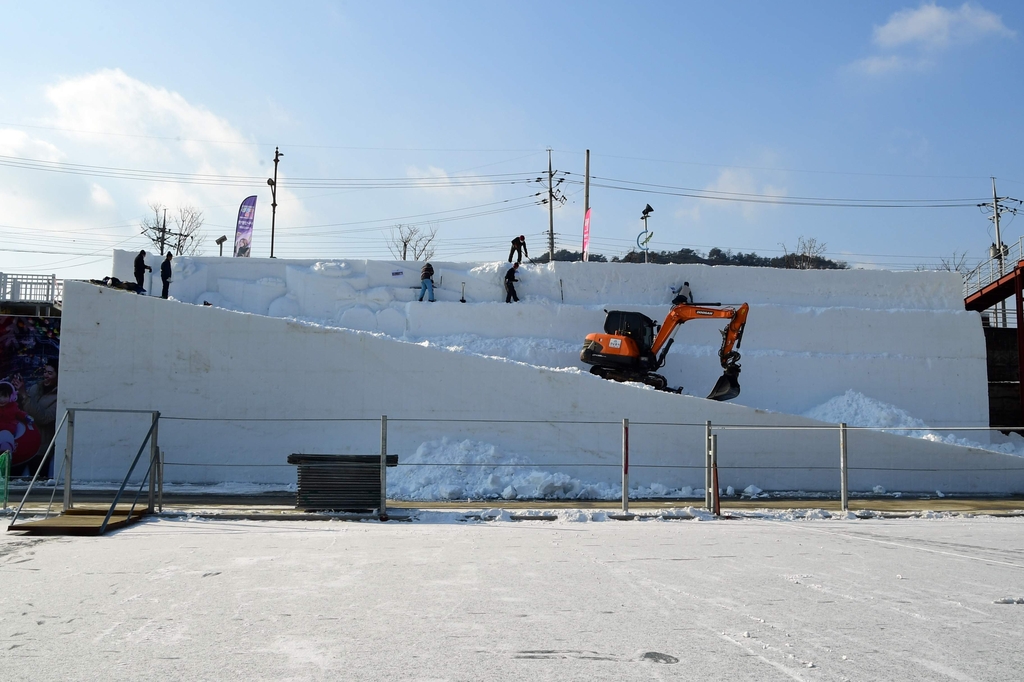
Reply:
[[[116, 251], [114, 274], [131, 279], [133, 253]], [[151, 257], [159, 272], [159, 256]], [[439, 302], [419, 295], [420, 263], [176, 258], [171, 296], [311, 324], [455, 347], [549, 368], [578, 368], [584, 337], [604, 310], [662, 321], [670, 287], [688, 281], [698, 302], [748, 302], [740, 348], [742, 392], [734, 400], [803, 414], [847, 390], [897, 406], [932, 426], [987, 426], [985, 340], [964, 309], [955, 272], [781, 270], [707, 265], [552, 263], [524, 265], [522, 303], [505, 298], [509, 265], [434, 262]], [[153, 291], [159, 291], [159, 278]], [[722, 321], [678, 330], [660, 371], [672, 386], [707, 395], [721, 375]]]

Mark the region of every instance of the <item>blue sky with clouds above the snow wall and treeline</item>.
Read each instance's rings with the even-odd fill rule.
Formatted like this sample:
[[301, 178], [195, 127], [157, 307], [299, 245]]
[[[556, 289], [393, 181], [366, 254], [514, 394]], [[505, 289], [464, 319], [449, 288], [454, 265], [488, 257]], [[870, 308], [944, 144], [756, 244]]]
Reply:
[[[976, 260], [989, 177], [1024, 199], [1022, 31], [993, 0], [0, 2], [0, 271], [102, 276], [152, 202], [202, 209], [215, 255], [253, 194], [269, 255], [275, 145], [279, 257], [390, 258], [398, 223], [435, 260], [541, 253], [548, 148], [579, 250], [589, 148], [609, 257], [649, 203], [655, 250]], [[964, 206], [903, 208], [933, 200]], [[863, 201], [901, 208], [793, 205]]]

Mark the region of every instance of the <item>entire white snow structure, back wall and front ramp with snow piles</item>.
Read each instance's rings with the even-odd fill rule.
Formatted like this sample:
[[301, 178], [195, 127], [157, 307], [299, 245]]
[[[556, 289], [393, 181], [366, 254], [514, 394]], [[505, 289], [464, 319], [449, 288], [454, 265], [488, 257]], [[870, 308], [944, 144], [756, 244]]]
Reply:
[[[115, 252], [115, 275], [133, 256]], [[287, 484], [289, 453], [379, 452], [388, 415], [389, 494], [412, 500], [616, 498], [624, 418], [633, 496], [702, 496], [706, 420], [781, 429], [720, 434], [721, 487], [749, 497], [835, 491], [838, 434], [785, 430], [816, 420], [900, 434], [851, 439], [853, 491], [1024, 488], [1004, 457], [1020, 438], [954, 430], [988, 420], [984, 337], [954, 273], [552, 263], [520, 268], [508, 305], [507, 263], [435, 262], [436, 303], [416, 301], [419, 265], [178, 258], [178, 302], [69, 283], [61, 400], [160, 410], [169, 483]], [[682, 280], [751, 305], [739, 397], [699, 398], [724, 321], [678, 330], [662, 372], [683, 395], [591, 376], [579, 350], [605, 310], [662, 319]], [[145, 420], [83, 419], [75, 475], [123, 475]]]

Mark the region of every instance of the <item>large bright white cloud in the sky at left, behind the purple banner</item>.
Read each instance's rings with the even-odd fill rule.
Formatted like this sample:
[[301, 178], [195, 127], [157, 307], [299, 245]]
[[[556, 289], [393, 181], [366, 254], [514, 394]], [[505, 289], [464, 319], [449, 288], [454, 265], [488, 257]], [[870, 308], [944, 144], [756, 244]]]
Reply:
[[[104, 244], [140, 239], [137, 225], [150, 212], [150, 202], [172, 210], [183, 204], [200, 208], [206, 216], [204, 231], [208, 236], [233, 225], [245, 197], [257, 194], [262, 206], [269, 205], [266, 170], [260, 164], [265, 150], [253, 144], [226, 119], [180, 93], [134, 79], [120, 69], [67, 78], [45, 88], [44, 93], [45, 100], [39, 102], [43, 111], [36, 122], [45, 127], [29, 132], [0, 129], [0, 155], [254, 180], [252, 186], [184, 184], [0, 167], [5, 223], [45, 235], [31, 243], [26, 238], [24, 244], [7, 244], [9, 248], [56, 251], [68, 249], [74, 236], [88, 235], [90, 248], [102, 251]], [[279, 232], [283, 225], [287, 228], [309, 221], [302, 200], [287, 187], [278, 191], [278, 203]], [[259, 212], [257, 223], [258, 229], [268, 235], [270, 212]], [[43, 239], [45, 243], [40, 241]], [[78, 248], [82, 248], [80, 244]], [[262, 255], [262, 249], [268, 251], [268, 238], [256, 248], [255, 255]], [[17, 253], [0, 252], [0, 270], [24, 271], [24, 259], [14, 260], [18, 258]], [[46, 267], [40, 260], [38, 267]], [[59, 255], [48, 258], [55, 263], [68, 260]]]

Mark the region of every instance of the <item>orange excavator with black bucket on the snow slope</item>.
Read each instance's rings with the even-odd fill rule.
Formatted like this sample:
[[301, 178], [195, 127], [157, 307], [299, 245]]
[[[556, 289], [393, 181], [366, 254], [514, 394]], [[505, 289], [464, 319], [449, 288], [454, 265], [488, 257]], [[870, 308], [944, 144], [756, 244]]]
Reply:
[[641, 312], [606, 311], [604, 333], [587, 335], [580, 359], [592, 366], [591, 374], [604, 379], [641, 381], [658, 390], [679, 393], [681, 387], [669, 388], [669, 381], [656, 373], [665, 365], [676, 330], [691, 319], [725, 318], [729, 324], [722, 330], [722, 347], [718, 350], [723, 373], [708, 398], [731, 400], [739, 395], [739, 353], [733, 348], [739, 348], [742, 341], [749, 309], [746, 303], [682, 303], [669, 311], [660, 330], [657, 323]]

